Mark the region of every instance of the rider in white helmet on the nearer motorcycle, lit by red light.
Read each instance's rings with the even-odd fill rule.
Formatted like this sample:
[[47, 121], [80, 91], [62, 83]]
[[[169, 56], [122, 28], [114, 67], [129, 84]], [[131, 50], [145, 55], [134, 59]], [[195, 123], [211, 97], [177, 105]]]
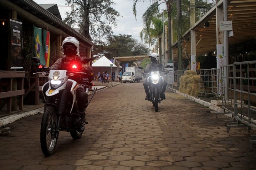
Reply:
[[[62, 50], [64, 53], [64, 57], [59, 58], [50, 68], [53, 70], [67, 70], [67, 71], [74, 71], [74, 68], [72, 68], [73, 63], [79, 63], [82, 59], [82, 57], [79, 57], [79, 41], [75, 37], [67, 37], [62, 42]], [[85, 70], [91, 70], [92, 67], [88, 65], [84, 65], [82, 63], [76, 65], [77, 69], [75, 71], [78, 72], [85, 72]], [[91, 75], [91, 74], [90, 74]], [[92, 74], [93, 75], [93, 74]], [[69, 77], [72, 79], [72, 77]], [[79, 83], [79, 82], [77, 82]], [[48, 89], [48, 88], [47, 88]], [[78, 87], [76, 89], [76, 97], [77, 97], [77, 109], [78, 113], [81, 116], [81, 119], [84, 120], [85, 118], [85, 107], [88, 103], [88, 95], [84, 89], [84, 86], [82, 84], [78, 84]], [[79, 125], [79, 132], [84, 131], [84, 124]]]

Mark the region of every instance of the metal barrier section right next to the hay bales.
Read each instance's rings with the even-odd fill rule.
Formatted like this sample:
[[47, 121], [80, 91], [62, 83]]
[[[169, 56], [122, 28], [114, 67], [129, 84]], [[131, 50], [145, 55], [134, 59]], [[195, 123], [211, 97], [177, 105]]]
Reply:
[[217, 97], [219, 95], [218, 74], [219, 69], [216, 68], [200, 70], [200, 95], [205, 97], [208, 95]]

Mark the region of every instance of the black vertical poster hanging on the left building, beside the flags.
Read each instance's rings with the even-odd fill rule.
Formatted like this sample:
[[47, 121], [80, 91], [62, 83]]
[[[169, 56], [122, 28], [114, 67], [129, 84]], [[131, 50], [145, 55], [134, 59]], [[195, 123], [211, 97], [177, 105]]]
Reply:
[[11, 69], [23, 68], [22, 22], [10, 19], [11, 26]]

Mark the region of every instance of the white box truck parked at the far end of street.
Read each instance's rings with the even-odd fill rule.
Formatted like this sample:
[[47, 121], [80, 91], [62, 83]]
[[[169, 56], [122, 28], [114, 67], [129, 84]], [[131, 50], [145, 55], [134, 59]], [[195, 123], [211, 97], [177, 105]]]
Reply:
[[143, 67], [126, 67], [122, 76], [122, 81], [124, 83], [134, 83], [135, 81], [140, 82], [140, 80], [142, 80], [141, 68]]

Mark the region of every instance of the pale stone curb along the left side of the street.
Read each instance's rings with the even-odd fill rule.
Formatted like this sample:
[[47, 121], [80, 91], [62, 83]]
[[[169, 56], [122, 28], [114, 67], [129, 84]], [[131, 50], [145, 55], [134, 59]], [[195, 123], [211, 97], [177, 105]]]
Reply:
[[[97, 92], [108, 89], [110, 87], [114, 87], [116, 85], [118, 85], [118, 83], [101, 88], [101, 89], [97, 90]], [[92, 93], [93, 93], [92, 91], [89, 91], [88, 95], [91, 95]], [[32, 116], [32, 115], [35, 115], [38, 113], [44, 113], [44, 107], [40, 107], [38, 109], [29, 111], [29, 112], [24, 112], [24, 113], [20, 113], [20, 114], [16, 113], [16, 114], [12, 114], [9, 116], [4, 116], [4, 117], [0, 118], [0, 128], [5, 125], [8, 125], [9, 123], [15, 122], [17, 120], [20, 120], [20, 119], [23, 119], [23, 118], [26, 118], [28, 116]]]

